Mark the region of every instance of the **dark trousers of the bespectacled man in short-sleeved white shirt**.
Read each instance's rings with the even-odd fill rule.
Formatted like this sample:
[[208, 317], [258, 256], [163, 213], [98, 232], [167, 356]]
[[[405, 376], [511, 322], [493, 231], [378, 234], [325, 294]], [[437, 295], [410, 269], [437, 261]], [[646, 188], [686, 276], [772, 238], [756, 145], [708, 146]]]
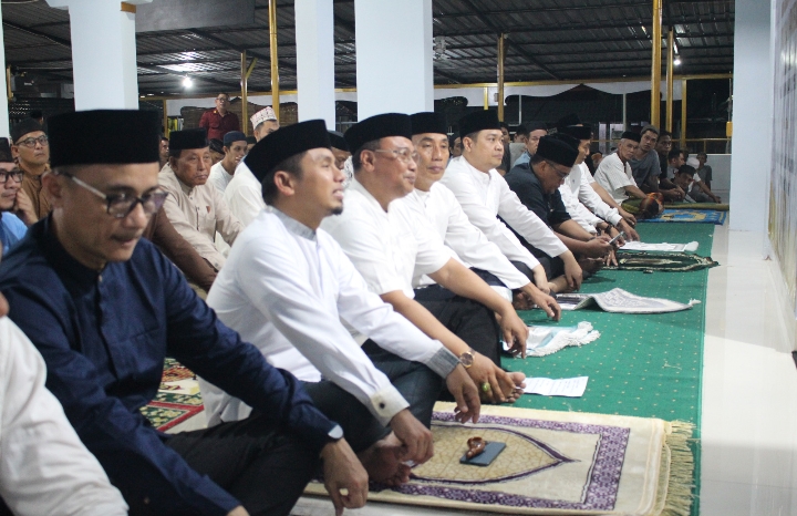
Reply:
[[415, 300], [452, 333], [500, 367], [498, 322], [493, 310], [439, 285], [415, 290]]

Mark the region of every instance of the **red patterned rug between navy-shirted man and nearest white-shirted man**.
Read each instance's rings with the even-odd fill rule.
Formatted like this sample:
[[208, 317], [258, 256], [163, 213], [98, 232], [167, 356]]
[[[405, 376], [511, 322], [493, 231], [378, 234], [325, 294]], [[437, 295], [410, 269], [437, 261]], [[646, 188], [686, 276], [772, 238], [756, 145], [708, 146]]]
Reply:
[[152, 425], [165, 432], [205, 410], [196, 375], [174, 359], [166, 359], [155, 399], [141, 409]]

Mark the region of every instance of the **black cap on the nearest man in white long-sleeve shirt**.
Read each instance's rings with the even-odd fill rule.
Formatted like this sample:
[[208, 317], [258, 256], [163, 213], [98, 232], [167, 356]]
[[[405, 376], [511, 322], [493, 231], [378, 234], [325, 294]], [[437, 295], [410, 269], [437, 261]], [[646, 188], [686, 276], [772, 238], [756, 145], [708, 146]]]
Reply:
[[244, 163], [259, 182], [277, 165], [311, 148], [330, 148], [327, 123], [309, 120], [275, 131], [249, 151]]

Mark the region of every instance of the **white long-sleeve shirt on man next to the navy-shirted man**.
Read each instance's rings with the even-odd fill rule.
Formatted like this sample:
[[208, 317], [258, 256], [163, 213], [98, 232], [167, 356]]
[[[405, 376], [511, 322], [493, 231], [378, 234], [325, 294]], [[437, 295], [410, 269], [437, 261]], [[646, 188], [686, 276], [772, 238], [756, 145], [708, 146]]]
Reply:
[[[267, 208], [238, 237], [207, 298], [219, 319], [298, 379], [322, 375], [354, 395], [383, 424], [407, 402], [354, 341], [342, 321], [392, 353], [447, 376], [457, 358], [370, 292], [340, 246]], [[201, 382], [209, 424], [251, 409]]]

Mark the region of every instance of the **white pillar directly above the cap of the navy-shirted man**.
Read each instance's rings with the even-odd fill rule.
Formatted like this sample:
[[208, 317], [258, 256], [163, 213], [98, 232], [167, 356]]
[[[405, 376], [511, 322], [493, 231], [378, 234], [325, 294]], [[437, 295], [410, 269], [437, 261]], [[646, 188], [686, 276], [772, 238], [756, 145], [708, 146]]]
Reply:
[[135, 13], [152, 0], [48, 0], [70, 12], [75, 110], [138, 109]]

